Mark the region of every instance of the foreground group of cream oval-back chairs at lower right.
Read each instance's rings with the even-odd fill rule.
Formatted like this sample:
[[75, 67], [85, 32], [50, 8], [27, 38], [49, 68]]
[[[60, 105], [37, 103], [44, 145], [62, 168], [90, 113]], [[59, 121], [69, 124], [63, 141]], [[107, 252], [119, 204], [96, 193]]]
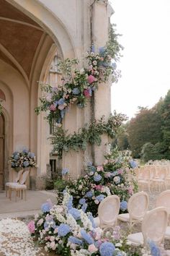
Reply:
[[147, 245], [148, 239], [161, 244], [170, 239], [170, 190], [162, 192], [156, 199], [156, 208], [148, 211], [149, 197], [146, 192], [135, 193], [128, 201], [128, 213], [119, 214], [120, 199], [117, 195], [104, 198], [99, 204], [98, 217], [94, 218], [96, 226], [102, 229], [113, 228], [117, 220], [133, 226], [141, 222], [141, 232], [128, 235], [133, 245]]

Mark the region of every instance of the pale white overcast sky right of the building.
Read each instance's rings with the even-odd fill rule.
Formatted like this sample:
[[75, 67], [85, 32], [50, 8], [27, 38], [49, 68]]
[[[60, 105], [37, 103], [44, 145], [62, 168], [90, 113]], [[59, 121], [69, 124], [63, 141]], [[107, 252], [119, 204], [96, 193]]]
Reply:
[[111, 0], [112, 22], [124, 46], [112, 85], [112, 110], [129, 118], [154, 106], [170, 89], [170, 0]]

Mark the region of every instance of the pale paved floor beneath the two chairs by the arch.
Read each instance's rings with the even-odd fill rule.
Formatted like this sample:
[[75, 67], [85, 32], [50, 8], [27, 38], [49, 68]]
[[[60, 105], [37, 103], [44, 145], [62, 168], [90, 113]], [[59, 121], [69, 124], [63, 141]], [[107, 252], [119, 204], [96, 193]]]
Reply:
[[0, 193], [0, 219], [1, 218], [24, 218], [40, 212], [43, 202], [50, 199], [56, 203], [54, 192], [27, 190], [27, 200], [17, 198], [15, 202], [14, 194], [12, 200], [5, 196], [5, 192]]

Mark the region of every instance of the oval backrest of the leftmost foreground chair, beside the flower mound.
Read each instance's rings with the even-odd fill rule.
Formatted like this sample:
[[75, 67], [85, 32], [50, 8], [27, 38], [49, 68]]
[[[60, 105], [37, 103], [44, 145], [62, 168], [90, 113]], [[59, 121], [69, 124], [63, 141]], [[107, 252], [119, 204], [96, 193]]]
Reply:
[[100, 226], [113, 226], [117, 221], [120, 211], [120, 197], [117, 195], [109, 195], [99, 204], [98, 216]]

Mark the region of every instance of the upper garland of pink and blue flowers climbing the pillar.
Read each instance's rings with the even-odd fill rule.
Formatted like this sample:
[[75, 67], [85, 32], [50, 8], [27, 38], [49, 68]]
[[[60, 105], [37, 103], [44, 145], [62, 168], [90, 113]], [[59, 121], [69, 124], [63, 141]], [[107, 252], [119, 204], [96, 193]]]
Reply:
[[66, 59], [58, 65], [63, 76], [61, 85], [55, 88], [41, 85], [42, 97], [35, 112], [40, 114], [41, 111], [48, 111], [46, 119], [50, 124], [53, 121], [60, 124], [66, 111], [75, 102], [79, 108], [84, 108], [99, 83], [107, 82], [111, 74], [112, 82], [117, 82], [120, 71], [117, 70], [116, 61], [120, 58], [122, 46], [117, 41], [119, 34], [115, 33], [114, 26], [110, 27], [109, 41], [105, 47], [95, 52], [94, 46], [91, 46], [91, 52], [86, 53], [86, 68], [77, 68], [78, 59]]

